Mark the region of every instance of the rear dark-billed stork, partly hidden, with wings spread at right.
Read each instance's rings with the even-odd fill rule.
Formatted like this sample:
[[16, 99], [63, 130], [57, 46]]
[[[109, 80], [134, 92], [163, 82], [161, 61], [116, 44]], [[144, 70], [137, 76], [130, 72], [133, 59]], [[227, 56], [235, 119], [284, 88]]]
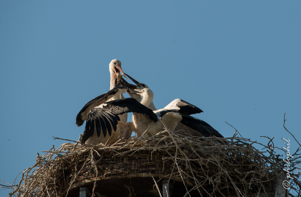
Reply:
[[[131, 76], [124, 74], [129, 77], [133, 82], [135, 82], [136, 86], [133, 84], [129, 84], [126, 82], [123, 78], [121, 78], [120, 83], [127, 86], [129, 88], [129, 91], [131, 91], [131, 94], [135, 95], [135, 91], [132, 89], [143, 89], [144, 87], [147, 87], [147, 85], [140, 83], [133, 79]], [[147, 87], [148, 88], [148, 87]], [[130, 96], [131, 96], [130, 94]], [[133, 98], [136, 98], [137, 100], [141, 99], [139, 97], [131, 96]], [[175, 99], [171, 103], [169, 103], [166, 107], [163, 109], [157, 110], [154, 106], [154, 103], [151, 102], [152, 105], [149, 106], [150, 109], [154, 111], [158, 116], [162, 117], [168, 112], [178, 112], [182, 116], [182, 120], [178, 123], [175, 130], [184, 130], [185, 133], [188, 133], [192, 136], [201, 136], [201, 137], [209, 137], [209, 136], [216, 136], [216, 137], [223, 137], [217, 130], [215, 130], [213, 127], [211, 127], [208, 123], [205, 121], [202, 121], [198, 118], [195, 118], [191, 116], [191, 114], [197, 114], [203, 112], [200, 108], [184, 101], [181, 99]]]

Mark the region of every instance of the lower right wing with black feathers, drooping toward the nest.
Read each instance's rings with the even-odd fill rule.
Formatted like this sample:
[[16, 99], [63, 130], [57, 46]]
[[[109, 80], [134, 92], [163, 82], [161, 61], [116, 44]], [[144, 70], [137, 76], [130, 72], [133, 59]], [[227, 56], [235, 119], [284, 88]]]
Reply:
[[200, 132], [204, 137], [216, 136], [223, 138], [223, 136], [217, 130], [215, 130], [205, 121], [202, 121], [198, 118], [194, 118], [192, 116], [182, 116], [181, 123]]

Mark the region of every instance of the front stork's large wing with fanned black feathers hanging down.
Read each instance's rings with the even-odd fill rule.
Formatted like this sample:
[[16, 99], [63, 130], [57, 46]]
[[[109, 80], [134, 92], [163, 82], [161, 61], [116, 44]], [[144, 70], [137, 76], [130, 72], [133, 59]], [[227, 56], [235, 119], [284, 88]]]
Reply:
[[101, 135], [101, 131], [104, 137], [107, 133], [111, 136], [112, 127], [116, 131], [118, 121], [120, 121], [118, 115], [129, 112], [144, 114], [149, 116], [154, 122], [158, 121], [157, 115], [151, 109], [142, 105], [134, 98], [112, 100], [94, 107], [88, 114], [85, 131], [82, 136], [83, 142], [89, 136], [93, 136], [95, 127], [98, 137]]

